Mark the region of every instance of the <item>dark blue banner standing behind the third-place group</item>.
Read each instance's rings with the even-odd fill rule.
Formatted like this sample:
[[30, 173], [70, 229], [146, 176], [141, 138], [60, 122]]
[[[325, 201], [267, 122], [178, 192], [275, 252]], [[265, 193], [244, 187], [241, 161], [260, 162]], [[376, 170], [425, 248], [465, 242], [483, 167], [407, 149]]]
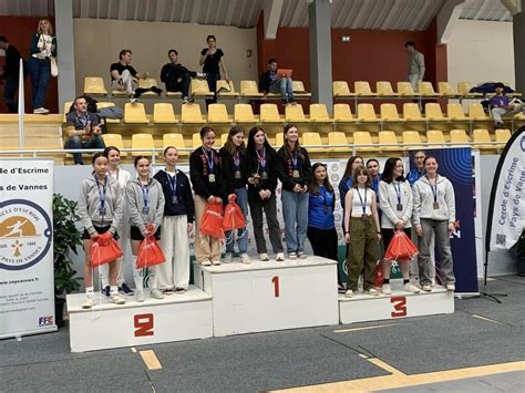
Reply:
[[[414, 168], [410, 152], [410, 168]], [[424, 149], [437, 159], [439, 174], [446, 177], [455, 194], [455, 234], [451, 235], [456, 293], [477, 293], [477, 259], [474, 218], [476, 210], [474, 157], [470, 147]], [[435, 258], [440, 260], [439, 255]], [[439, 268], [439, 263], [437, 263]]]

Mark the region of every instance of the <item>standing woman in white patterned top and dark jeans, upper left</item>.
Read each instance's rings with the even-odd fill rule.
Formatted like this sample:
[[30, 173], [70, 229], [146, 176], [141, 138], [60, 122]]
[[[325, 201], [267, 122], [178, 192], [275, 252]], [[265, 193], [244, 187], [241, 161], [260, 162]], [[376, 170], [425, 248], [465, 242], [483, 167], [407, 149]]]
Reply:
[[56, 56], [56, 38], [48, 19], [41, 19], [37, 34], [31, 39], [28, 71], [32, 84], [33, 113], [47, 114], [44, 105], [45, 92], [51, 79], [51, 56]]

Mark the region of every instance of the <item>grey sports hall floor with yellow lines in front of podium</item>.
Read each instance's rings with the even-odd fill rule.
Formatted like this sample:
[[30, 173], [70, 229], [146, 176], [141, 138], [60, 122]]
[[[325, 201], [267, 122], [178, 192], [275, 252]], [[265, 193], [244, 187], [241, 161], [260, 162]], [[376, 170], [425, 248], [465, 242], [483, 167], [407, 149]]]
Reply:
[[66, 328], [3, 340], [0, 392], [524, 392], [525, 278], [487, 290], [508, 296], [455, 300], [453, 314], [132, 349], [71, 353]]

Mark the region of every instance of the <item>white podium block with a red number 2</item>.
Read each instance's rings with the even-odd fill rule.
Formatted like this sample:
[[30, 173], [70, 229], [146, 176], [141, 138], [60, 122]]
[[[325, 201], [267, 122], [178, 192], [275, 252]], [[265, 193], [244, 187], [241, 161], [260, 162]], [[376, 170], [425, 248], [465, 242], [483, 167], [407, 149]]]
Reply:
[[96, 304], [84, 310], [85, 293], [68, 294], [71, 351], [213, 337], [212, 297], [197, 287], [189, 286], [186, 293], [162, 300], [151, 299], [147, 290], [144, 297], [141, 303], [134, 297], [125, 297], [126, 303], [116, 306], [95, 294]]

